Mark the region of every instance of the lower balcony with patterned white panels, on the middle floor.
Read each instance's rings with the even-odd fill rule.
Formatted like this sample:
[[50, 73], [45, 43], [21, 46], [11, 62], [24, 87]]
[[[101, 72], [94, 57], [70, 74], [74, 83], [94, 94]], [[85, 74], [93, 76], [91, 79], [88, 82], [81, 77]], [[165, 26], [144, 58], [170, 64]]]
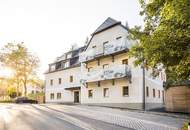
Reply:
[[81, 83], [97, 82], [103, 80], [130, 78], [131, 71], [128, 65], [114, 65], [109, 68], [87, 72], [82, 75]]

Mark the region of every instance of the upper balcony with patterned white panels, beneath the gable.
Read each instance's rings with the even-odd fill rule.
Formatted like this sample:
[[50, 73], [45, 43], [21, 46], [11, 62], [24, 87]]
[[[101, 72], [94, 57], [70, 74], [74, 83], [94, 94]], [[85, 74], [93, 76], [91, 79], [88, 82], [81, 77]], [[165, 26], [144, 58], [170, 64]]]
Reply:
[[[92, 48], [89, 51], [85, 51], [80, 54], [79, 61], [87, 62], [95, 58], [115, 54], [127, 50], [130, 47], [130, 43], [127, 39], [114, 40], [104, 44], [103, 49]], [[101, 51], [102, 50], [102, 51]]]

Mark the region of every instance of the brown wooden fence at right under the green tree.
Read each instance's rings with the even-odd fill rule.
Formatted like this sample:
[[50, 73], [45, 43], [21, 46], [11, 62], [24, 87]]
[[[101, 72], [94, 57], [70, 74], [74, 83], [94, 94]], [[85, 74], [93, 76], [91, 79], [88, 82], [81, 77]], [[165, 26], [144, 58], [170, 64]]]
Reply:
[[166, 110], [190, 113], [190, 87], [170, 87], [166, 91]]

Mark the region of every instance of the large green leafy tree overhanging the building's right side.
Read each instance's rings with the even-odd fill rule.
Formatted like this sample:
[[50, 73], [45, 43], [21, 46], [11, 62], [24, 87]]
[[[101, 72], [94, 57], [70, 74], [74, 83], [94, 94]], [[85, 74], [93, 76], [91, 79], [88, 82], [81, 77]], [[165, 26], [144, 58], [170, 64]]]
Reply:
[[139, 0], [144, 28], [130, 29], [137, 41], [130, 55], [156, 69], [163, 65], [169, 81], [190, 79], [190, 1]]

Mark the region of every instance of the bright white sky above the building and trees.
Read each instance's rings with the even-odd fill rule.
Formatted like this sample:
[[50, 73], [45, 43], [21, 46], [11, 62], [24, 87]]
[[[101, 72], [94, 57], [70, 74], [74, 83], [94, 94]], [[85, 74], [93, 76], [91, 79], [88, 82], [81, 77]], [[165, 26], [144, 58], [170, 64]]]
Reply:
[[[107, 18], [142, 25], [138, 0], [0, 0], [0, 47], [24, 42], [39, 56], [39, 73]], [[0, 74], [4, 73], [0, 69]]]

